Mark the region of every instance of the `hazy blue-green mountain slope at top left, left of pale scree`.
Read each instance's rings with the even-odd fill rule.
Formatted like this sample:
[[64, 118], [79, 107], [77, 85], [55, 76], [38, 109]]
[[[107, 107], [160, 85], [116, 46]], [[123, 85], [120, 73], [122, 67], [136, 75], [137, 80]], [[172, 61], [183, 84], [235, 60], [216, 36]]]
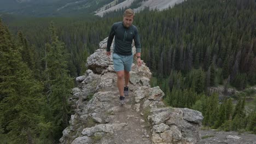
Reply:
[[0, 2], [0, 13], [27, 16], [67, 16], [89, 14], [112, 0], [54, 0], [54, 1], [8, 1]]

